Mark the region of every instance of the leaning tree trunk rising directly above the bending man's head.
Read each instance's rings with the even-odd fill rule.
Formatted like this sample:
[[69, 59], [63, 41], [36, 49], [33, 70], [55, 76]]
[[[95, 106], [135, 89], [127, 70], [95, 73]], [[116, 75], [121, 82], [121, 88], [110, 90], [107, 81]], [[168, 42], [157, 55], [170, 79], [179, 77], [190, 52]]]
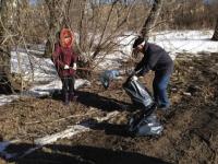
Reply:
[[143, 30], [141, 31], [141, 35], [148, 40], [149, 34], [154, 30], [156, 25], [156, 21], [158, 20], [159, 13], [162, 8], [164, 0], [154, 0], [153, 8], [148, 17], [145, 20], [145, 24], [143, 25]]

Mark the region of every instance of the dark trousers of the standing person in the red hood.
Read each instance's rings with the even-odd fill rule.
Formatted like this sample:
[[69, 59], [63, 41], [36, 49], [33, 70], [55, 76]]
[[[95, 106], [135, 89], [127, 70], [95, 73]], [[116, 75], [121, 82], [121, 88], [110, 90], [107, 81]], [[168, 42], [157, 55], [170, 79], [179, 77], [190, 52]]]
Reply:
[[63, 95], [63, 102], [64, 104], [69, 104], [70, 98], [72, 95], [74, 95], [74, 83], [75, 78], [74, 77], [64, 77], [61, 79], [62, 81], [62, 95]]

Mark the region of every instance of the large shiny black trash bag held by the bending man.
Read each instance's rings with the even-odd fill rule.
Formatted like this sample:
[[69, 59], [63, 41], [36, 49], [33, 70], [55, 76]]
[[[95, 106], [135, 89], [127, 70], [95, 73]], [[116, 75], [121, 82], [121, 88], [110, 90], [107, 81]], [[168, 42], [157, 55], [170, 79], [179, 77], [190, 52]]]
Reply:
[[157, 108], [149, 91], [132, 77], [128, 78], [123, 89], [131, 97], [134, 105], [140, 107], [140, 113], [133, 115], [129, 121], [129, 132], [134, 136], [157, 136], [162, 131], [162, 126], [157, 120]]

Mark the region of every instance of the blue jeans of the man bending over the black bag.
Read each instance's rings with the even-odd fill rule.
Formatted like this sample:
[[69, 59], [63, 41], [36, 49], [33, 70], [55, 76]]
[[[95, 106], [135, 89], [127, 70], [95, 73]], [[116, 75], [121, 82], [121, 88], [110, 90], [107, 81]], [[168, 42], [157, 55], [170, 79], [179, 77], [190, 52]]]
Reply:
[[153, 90], [155, 102], [161, 108], [168, 108], [170, 106], [170, 102], [168, 99], [167, 86], [170, 80], [171, 74], [165, 73], [155, 73], [155, 79], [153, 81]]

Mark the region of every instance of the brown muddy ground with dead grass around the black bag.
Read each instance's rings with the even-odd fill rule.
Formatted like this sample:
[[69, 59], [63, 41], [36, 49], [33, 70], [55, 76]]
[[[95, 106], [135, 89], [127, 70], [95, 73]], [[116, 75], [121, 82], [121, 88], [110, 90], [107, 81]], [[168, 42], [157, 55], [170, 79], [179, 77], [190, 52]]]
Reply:
[[[90, 131], [36, 150], [29, 155], [1, 163], [218, 163], [218, 54], [180, 55], [169, 85], [172, 106], [156, 110], [164, 125], [160, 137], [130, 137], [125, 129], [135, 108], [122, 90], [124, 80], [104, 90], [94, 80], [81, 89], [77, 102], [62, 105], [59, 94], [20, 99], [1, 106], [0, 138], [17, 139], [9, 152], [33, 147], [37, 138], [60, 132], [84, 120], [95, 121], [108, 113], [119, 114], [95, 124]], [[150, 75], [152, 77], [152, 75]], [[142, 79], [141, 79], [142, 81]], [[142, 81], [143, 82], [143, 81]], [[150, 80], [146, 80], [150, 89]], [[95, 121], [96, 122], [96, 121]]]

